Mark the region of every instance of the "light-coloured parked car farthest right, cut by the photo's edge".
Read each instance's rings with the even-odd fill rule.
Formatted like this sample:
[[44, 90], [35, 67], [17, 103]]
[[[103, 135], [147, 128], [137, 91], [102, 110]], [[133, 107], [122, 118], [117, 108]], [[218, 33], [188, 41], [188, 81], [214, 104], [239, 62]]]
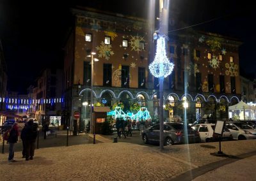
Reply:
[[226, 122], [225, 124], [231, 131], [234, 140], [256, 139], [256, 130], [244, 122]]

